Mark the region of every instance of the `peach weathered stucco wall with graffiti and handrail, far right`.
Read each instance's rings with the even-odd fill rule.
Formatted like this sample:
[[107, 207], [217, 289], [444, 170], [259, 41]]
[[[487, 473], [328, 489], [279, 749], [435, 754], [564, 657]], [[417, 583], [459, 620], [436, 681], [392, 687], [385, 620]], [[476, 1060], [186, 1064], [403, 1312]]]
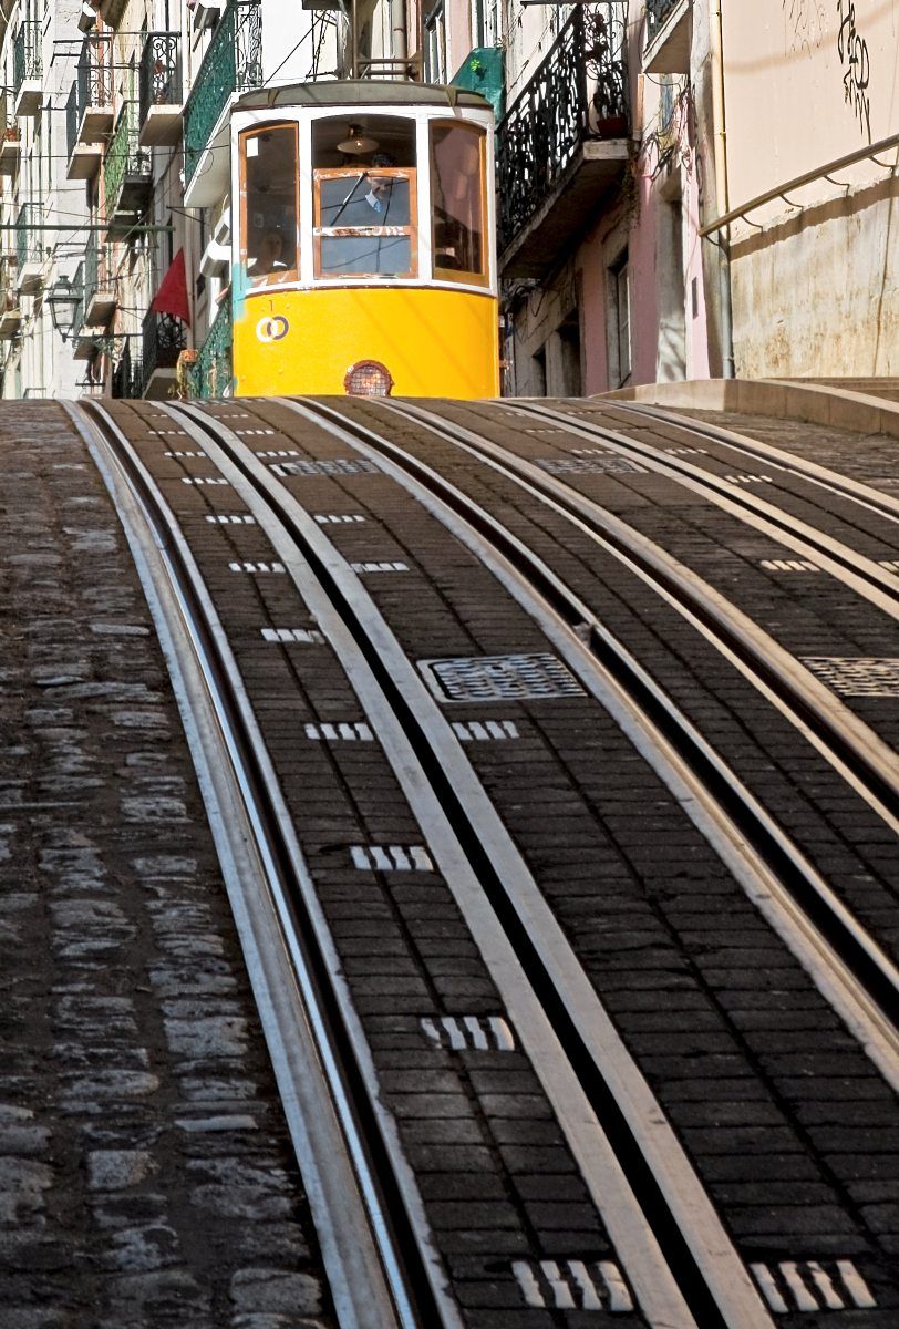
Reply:
[[[899, 132], [899, 0], [725, 5], [724, 65], [730, 207]], [[896, 157], [732, 227], [740, 376], [899, 371]]]

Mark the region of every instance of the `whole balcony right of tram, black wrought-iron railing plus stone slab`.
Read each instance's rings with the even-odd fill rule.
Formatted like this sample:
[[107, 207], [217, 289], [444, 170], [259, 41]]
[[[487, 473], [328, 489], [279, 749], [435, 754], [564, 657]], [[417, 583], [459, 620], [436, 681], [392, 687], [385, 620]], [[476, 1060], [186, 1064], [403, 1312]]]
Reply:
[[628, 165], [625, 27], [578, 5], [497, 129], [501, 268], [539, 276]]

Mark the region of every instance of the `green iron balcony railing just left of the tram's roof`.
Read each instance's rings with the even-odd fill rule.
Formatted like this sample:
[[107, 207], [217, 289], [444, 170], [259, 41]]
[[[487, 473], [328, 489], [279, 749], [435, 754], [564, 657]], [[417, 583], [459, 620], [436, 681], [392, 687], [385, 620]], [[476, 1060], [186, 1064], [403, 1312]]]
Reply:
[[262, 5], [230, 0], [185, 106], [185, 183], [197, 173], [215, 122], [234, 92], [262, 82]]

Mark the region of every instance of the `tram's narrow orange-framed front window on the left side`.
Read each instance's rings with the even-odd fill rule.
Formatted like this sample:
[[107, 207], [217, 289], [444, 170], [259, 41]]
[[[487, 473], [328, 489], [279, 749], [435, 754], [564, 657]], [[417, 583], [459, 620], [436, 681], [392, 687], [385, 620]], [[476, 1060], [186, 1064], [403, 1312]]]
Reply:
[[297, 279], [297, 130], [240, 136], [243, 262], [252, 286]]

